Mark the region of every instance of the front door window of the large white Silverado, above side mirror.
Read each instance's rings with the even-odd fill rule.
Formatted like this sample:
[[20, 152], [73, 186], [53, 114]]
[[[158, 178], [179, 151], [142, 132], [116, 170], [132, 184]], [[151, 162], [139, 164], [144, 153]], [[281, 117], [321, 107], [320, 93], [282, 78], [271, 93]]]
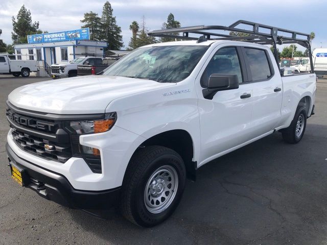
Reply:
[[209, 77], [212, 74], [237, 75], [239, 83], [243, 82], [241, 65], [236, 47], [224, 47], [217, 51], [202, 75], [202, 87], [208, 86]]

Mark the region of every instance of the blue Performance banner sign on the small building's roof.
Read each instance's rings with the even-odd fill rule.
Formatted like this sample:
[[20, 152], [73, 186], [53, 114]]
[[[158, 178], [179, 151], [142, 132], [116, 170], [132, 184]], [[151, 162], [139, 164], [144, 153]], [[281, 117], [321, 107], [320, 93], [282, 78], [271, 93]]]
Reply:
[[58, 42], [71, 40], [89, 40], [90, 32], [88, 28], [77, 29], [73, 31], [41, 33], [28, 35], [28, 43], [44, 43], [44, 42]]

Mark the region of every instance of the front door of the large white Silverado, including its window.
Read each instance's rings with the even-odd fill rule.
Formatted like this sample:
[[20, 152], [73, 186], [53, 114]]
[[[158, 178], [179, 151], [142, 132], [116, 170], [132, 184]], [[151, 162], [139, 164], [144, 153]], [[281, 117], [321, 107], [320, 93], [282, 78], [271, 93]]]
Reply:
[[[240, 47], [221, 47], [207, 61], [197, 78], [196, 86], [201, 84], [197, 89], [201, 130], [199, 165], [252, 138], [252, 86], [248, 83], [242, 84], [247, 81], [247, 74], [245, 67], [241, 65], [241, 53]], [[237, 75], [239, 88], [218, 91], [212, 100], [205, 99], [202, 90], [206, 88], [211, 74]]]

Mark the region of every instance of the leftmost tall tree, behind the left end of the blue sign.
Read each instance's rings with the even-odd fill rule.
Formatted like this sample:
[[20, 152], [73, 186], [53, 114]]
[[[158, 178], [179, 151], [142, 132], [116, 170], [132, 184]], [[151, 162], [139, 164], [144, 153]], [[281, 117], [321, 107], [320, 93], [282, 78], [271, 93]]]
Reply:
[[12, 16], [12, 27], [11, 38], [13, 43], [27, 43], [27, 35], [42, 33], [39, 30], [39, 22], [34, 21], [32, 23], [31, 12], [24, 5], [21, 6], [16, 18]]

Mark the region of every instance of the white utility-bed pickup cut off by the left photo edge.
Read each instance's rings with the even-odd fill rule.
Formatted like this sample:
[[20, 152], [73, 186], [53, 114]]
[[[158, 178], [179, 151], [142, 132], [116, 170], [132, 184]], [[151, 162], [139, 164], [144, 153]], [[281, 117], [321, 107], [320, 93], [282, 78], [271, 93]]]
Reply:
[[0, 54], [0, 74], [27, 78], [32, 71], [38, 71], [36, 60], [11, 60], [8, 54]]

